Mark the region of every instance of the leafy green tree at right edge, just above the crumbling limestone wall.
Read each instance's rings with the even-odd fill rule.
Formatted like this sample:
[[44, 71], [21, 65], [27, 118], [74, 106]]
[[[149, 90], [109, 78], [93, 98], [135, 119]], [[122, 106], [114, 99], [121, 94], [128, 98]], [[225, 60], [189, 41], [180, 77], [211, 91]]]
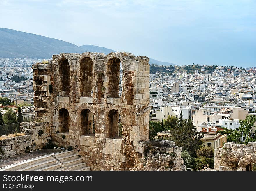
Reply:
[[254, 125], [255, 122], [256, 115], [246, 115], [246, 119], [239, 120], [239, 131], [243, 133], [243, 136], [245, 136], [245, 144], [248, 144], [248, 142], [251, 141], [256, 141], [256, 131], [253, 132], [253, 128], [256, 128], [256, 126]]

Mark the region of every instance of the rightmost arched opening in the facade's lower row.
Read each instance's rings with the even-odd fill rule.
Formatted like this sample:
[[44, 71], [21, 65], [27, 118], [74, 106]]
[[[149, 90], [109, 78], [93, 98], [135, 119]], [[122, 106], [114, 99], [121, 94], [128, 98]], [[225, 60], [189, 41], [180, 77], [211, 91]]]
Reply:
[[113, 109], [109, 111], [109, 137], [122, 136], [122, 123], [120, 115], [117, 110]]

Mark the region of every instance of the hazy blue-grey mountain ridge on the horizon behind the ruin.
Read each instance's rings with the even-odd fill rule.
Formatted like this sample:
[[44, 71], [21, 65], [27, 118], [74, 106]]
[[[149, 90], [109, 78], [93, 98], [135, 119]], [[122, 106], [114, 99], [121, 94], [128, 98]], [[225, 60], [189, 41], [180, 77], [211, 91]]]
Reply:
[[[0, 57], [2, 58], [51, 58], [53, 54], [60, 53], [101, 52], [109, 54], [116, 52], [105, 47], [94, 45], [77, 46], [75, 44], [45, 37], [32, 33], [0, 28]], [[150, 64], [175, 65], [150, 58]]]

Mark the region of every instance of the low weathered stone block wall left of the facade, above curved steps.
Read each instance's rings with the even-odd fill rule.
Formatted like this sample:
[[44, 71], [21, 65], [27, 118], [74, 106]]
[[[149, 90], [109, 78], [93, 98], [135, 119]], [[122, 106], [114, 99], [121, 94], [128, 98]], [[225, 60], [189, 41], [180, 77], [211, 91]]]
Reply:
[[[1, 136], [0, 158], [14, 156], [42, 149], [51, 140], [51, 131], [47, 122], [20, 123], [22, 133], [13, 137]], [[42, 134], [38, 133], [42, 130]]]

